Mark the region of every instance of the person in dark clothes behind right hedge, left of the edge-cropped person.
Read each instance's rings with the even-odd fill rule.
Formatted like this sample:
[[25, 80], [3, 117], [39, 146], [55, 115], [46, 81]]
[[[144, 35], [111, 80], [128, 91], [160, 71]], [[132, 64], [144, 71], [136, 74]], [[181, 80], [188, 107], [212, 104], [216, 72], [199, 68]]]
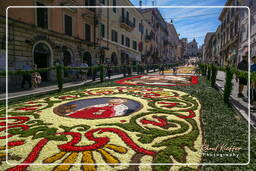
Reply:
[[[248, 72], [248, 59], [247, 59], [248, 55], [244, 55], [242, 58], [243, 60], [241, 62], [239, 62], [239, 64], [237, 65], [237, 69], [241, 70], [241, 71], [247, 71]], [[238, 81], [238, 78], [236, 78], [236, 81]], [[246, 78], [239, 78], [239, 88], [238, 88], [238, 97], [239, 98], [244, 98], [243, 95], [243, 90], [244, 90], [244, 86], [247, 85], [247, 79]]]

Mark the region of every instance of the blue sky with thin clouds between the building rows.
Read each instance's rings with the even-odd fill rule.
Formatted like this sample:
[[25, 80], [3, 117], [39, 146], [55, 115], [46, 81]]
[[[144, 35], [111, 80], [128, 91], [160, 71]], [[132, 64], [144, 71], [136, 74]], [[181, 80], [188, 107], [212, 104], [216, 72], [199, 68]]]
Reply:
[[[139, 0], [130, 0], [139, 5]], [[152, 5], [152, 0], [143, 0], [143, 5]], [[224, 6], [226, 0], [155, 0], [157, 6]], [[160, 8], [163, 18], [175, 25], [180, 38], [196, 39], [203, 44], [207, 32], [215, 32], [220, 24], [218, 17], [220, 8]]]

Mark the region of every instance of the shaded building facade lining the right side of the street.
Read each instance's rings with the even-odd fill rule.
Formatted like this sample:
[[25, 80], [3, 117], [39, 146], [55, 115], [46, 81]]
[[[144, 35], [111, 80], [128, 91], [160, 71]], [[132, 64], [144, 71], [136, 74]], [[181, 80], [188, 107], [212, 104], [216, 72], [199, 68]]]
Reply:
[[256, 2], [228, 0], [226, 6], [247, 6], [250, 8], [250, 14], [247, 8], [224, 8], [219, 16], [221, 25], [211, 38], [206, 35], [204, 59], [206, 62], [218, 62], [222, 66], [236, 66], [248, 51], [249, 36], [251, 56], [256, 55]]

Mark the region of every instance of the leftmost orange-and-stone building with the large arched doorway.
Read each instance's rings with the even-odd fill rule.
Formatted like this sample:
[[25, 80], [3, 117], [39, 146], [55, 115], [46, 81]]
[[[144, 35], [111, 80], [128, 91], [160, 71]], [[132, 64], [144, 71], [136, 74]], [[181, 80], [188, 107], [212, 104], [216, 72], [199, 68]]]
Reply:
[[[0, 37], [5, 43], [5, 8], [7, 6], [39, 6], [40, 8], [8, 9], [8, 66], [22, 69], [26, 62], [47, 68], [55, 63], [68, 66], [86, 60], [94, 61], [96, 46], [95, 11], [85, 8], [43, 8], [44, 6], [82, 6], [84, 0], [4, 1], [0, 17]], [[43, 81], [55, 79], [55, 72], [42, 74]], [[9, 79], [20, 84], [20, 77]]]

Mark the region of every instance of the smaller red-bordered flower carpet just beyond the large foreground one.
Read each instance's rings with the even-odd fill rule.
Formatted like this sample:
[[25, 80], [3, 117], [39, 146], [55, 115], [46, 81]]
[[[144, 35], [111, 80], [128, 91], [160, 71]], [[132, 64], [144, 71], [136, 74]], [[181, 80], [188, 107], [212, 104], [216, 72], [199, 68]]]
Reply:
[[198, 84], [197, 76], [190, 75], [139, 75], [116, 81], [123, 85], [178, 86]]

